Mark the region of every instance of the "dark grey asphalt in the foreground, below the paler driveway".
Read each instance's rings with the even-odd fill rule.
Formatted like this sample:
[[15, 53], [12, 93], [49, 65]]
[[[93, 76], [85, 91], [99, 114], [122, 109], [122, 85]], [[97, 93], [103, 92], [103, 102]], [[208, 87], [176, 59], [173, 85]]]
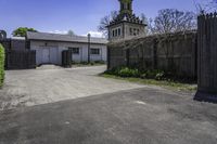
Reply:
[[0, 112], [0, 144], [217, 144], [217, 105], [192, 99], [142, 88]]

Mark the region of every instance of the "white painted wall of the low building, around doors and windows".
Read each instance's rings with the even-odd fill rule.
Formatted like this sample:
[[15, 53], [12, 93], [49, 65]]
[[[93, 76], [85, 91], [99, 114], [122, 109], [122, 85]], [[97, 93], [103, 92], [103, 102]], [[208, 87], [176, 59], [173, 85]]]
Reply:
[[[58, 49], [58, 65], [62, 64], [62, 51], [68, 48], [79, 48], [79, 54], [73, 54], [73, 61], [87, 62], [88, 61], [88, 43], [75, 42], [54, 42], [54, 41], [30, 41], [30, 49], [36, 50], [37, 65], [42, 64], [42, 48], [56, 48]], [[107, 47], [105, 44], [91, 44], [90, 48], [100, 49], [99, 55], [90, 55], [90, 61], [107, 61]], [[52, 53], [51, 53], [52, 54]]]

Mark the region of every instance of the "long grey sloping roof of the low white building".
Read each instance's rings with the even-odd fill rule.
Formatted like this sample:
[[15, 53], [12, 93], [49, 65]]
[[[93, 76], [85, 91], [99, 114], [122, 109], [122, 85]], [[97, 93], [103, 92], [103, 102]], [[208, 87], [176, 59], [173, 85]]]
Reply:
[[[88, 37], [49, 34], [49, 32], [30, 32], [30, 31], [28, 31], [26, 38], [28, 40], [48, 40], [48, 41], [88, 43]], [[107, 40], [105, 38], [91, 37], [90, 42], [97, 43], [97, 44], [106, 44]]]

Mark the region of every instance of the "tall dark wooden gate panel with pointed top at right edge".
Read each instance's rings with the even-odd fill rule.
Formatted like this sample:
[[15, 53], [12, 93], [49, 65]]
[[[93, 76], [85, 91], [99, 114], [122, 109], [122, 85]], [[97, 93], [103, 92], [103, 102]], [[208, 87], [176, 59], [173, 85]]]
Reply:
[[199, 91], [195, 100], [217, 103], [217, 13], [197, 21]]

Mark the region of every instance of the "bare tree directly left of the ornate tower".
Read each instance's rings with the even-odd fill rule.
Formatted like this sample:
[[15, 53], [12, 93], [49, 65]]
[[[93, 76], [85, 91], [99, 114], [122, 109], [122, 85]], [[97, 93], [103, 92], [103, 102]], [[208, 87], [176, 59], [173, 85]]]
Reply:
[[110, 25], [110, 22], [114, 21], [118, 15], [117, 11], [112, 11], [108, 15], [105, 15], [101, 18], [100, 25], [98, 26], [98, 30], [103, 32], [103, 35], [107, 35], [107, 26]]

